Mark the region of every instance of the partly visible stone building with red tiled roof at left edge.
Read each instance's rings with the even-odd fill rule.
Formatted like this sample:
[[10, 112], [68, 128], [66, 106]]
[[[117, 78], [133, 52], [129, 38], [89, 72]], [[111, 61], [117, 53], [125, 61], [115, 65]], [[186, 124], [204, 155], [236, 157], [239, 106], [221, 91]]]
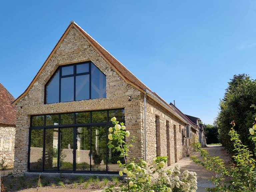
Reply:
[[14, 97], [0, 83], [0, 161], [13, 166], [16, 125], [16, 107], [12, 105]]

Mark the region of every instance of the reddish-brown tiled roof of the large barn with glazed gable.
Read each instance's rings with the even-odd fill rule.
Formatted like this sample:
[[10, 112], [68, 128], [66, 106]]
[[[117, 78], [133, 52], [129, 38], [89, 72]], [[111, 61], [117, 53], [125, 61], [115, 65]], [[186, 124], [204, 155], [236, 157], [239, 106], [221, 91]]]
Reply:
[[[31, 81], [29, 86], [26, 88], [26, 90], [13, 102], [13, 104], [16, 104], [17, 101], [19, 101], [23, 96], [25, 96], [28, 91], [33, 86], [34, 82], [38, 78], [41, 71], [43, 71], [44, 67], [48, 63], [48, 61], [51, 59], [54, 52], [57, 50], [58, 46], [62, 42], [62, 40], [65, 38], [68, 31], [72, 28], [76, 28], [80, 33], [83, 35], [83, 37], [99, 52], [99, 54], [106, 60], [106, 62], [128, 83], [134, 86], [135, 88], [139, 89], [141, 92], [145, 93], [146, 91], [150, 92], [155, 98], [160, 100], [160, 103], [162, 102], [167, 108], [170, 108], [170, 105], [163, 100], [159, 95], [157, 95], [155, 92], [151, 91], [144, 83], [142, 83], [135, 75], [133, 75], [121, 62], [119, 62], [114, 56], [112, 56], [106, 49], [104, 49], [96, 40], [94, 40], [88, 33], [86, 33], [79, 25], [77, 25], [74, 21], [71, 21], [63, 35], [61, 36], [60, 40], [57, 42], [53, 50], [51, 51], [50, 55], [47, 57], [46, 61], [42, 65], [42, 67], [37, 72], [34, 79]], [[162, 104], [161, 103], [161, 104]], [[178, 114], [175, 113], [174, 109], [169, 109], [172, 113], [174, 113], [176, 116], [179, 117]], [[181, 120], [184, 121], [183, 118]], [[186, 122], [186, 121], [185, 121]]]

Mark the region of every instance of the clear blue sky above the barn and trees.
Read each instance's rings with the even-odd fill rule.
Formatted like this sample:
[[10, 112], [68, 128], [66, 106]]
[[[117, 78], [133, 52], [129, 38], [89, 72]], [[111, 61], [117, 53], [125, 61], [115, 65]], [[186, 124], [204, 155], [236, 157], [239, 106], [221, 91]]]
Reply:
[[213, 123], [234, 74], [256, 78], [255, 0], [3, 1], [1, 8], [0, 82], [15, 98], [71, 20], [152, 91], [205, 123]]

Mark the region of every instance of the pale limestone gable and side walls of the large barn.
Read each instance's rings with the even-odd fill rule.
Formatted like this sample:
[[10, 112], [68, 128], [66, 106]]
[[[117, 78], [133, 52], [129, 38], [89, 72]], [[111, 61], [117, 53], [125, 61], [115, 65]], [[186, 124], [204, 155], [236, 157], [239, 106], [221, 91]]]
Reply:
[[[60, 65], [92, 61], [106, 75], [106, 98], [73, 101], [65, 103], [44, 104], [44, 86]], [[130, 101], [128, 97], [131, 97]], [[126, 83], [89, 44], [89, 42], [72, 27], [46, 67], [40, 73], [28, 94], [17, 102], [17, 122], [15, 134], [14, 173], [27, 171], [30, 116], [37, 114], [92, 111], [103, 109], [125, 109], [127, 130], [136, 137], [130, 156], [144, 157], [144, 94]], [[160, 142], [158, 153], [169, 154], [169, 163], [185, 156], [187, 147], [182, 145], [182, 129], [185, 123], [169, 111], [147, 97], [147, 160], [156, 156], [156, 135]], [[156, 134], [156, 116], [159, 117], [159, 133]], [[166, 123], [169, 122], [167, 140]], [[176, 130], [174, 127], [176, 126]], [[175, 134], [176, 133], [176, 134]], [[127, 141], [129, 142], [129, 139]], [[167, 145], [168, 142], [168, 145]], [[185, 142], [186, 143], [186, 142]], [[167, 152], [167, 146], [169, 152]]]

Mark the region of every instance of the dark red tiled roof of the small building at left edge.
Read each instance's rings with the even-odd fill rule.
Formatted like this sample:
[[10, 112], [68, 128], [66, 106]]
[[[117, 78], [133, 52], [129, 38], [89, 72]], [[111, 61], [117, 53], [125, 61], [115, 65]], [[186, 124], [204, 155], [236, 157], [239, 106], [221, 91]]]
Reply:
[[14, 97], [0, 83], [0, 124], [16, 125], [16, 106]]

